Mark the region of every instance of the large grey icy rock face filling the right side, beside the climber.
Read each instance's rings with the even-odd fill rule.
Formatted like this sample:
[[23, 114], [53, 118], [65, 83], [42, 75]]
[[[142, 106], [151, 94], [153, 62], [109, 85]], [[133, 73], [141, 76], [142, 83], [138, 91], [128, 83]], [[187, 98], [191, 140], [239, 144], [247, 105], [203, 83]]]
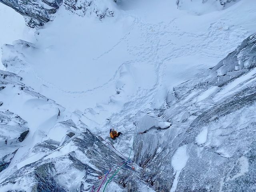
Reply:
[[[215, 67], [174, 87], [175, 99], [155, 111], [172, 126], [138, 137], [134, 159], [156, 191], [256, 190], [255, 55], [252, 35]], [[137, 129], [147, 123], [141, 119]]]

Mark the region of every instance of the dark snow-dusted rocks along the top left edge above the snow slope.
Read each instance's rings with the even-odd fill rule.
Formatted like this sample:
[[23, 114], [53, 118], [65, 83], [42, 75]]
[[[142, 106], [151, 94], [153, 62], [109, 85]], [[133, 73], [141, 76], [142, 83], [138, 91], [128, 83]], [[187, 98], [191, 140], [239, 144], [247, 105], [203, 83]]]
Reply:
[[31, 28], [52, 21], [62, 4], [67, 10], [80, 16], [95, 14], [100, 19], [114, 16], [111, 0], [0, 0], [0, 2], [23, 15], [26, 25]]

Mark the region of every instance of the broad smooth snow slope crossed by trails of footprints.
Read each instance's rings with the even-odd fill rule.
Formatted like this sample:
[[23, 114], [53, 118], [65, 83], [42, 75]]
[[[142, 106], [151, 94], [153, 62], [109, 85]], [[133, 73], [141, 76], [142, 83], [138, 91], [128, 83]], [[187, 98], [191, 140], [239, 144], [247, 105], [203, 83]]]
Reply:
[[36, 33], [36, 51], [20, 50], [30, 69], [10, 70], [61, 105], [69, 103], [70, 111], [106, 108], [111, 115], [128, 102], [138, 111], [159, 107], [166, 91], [213, 66], [255, 28], [250, 0], [203, 17], [179, 11], [169, 1], [137, 9], [100, 22], [62, 8]]

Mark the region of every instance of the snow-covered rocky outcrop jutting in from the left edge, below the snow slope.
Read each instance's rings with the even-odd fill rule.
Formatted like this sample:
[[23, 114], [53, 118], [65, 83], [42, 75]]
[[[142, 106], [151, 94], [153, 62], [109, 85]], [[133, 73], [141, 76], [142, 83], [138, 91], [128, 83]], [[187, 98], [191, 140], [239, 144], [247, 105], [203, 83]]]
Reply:
[[42, 108], [48, 109], [49, 114], [53, 112], [56, 119], [57, 110], [63, 111], [54, 101], [26, 87], [22, 80], [14, 73], [0, 70], [0, 171], [8, 167], [19, 148], [24, 146], [31, 129], [34, 131], [27, 119], [44, 118], [38, 113], [45, 111]]

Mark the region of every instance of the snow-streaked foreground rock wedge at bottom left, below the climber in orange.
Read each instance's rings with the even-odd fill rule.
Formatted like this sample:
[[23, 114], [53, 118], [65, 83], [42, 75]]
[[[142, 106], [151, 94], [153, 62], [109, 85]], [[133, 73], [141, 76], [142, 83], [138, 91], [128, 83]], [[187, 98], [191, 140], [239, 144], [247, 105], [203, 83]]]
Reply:
[[[20, 186], [17, 190], [24, 192], [90, 191], [92, 186], [96, 189], [100, 186], [102, 179], [98, 176], [110, 168], [113, 174], [124, 162], [126, 160], [86, 130], [37, 162], [20, 168], [6, 178], [0, 188], [12, 185], [10, 192], [15, 191], [15, 186]], [[119, 188], [118, 191], [135, 192], [146, 186], [128, 164], [122, 166], [114, 180], [119, 183], [115, 188]], [[110, 191], [109, 187], [107, 191]]]

